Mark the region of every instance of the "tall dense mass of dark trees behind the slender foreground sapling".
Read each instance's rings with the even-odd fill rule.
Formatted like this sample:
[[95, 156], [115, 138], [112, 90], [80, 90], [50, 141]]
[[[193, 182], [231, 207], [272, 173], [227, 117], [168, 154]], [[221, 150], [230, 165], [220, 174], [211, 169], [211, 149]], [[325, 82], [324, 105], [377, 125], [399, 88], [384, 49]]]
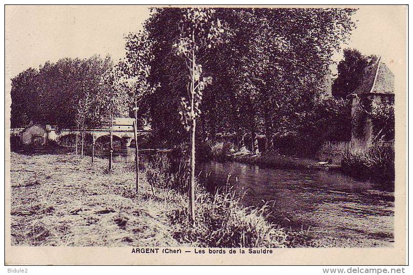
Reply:
[[[205, 11], [198, 10], [201, 12]], [[337, 129], [325, 131], [330, 112], [320, 110], [325, 103], [319, 95], [325, 89], [333, 52], [354, 28], [354, 12], [331, 8], [215, 9], [207, 27], [203, 26], [205, 31], [195, 28], [202, 45], [195, 46], [194, 72], [208, 76], [200, 79], [212, 83], [203, 86], [202, 114], [197, 111], [202, 118], [196, 128], [198, 142], [214, 139], [217, 134], [237, 135], [241, 141], [249, 136], [252, 150], [257, 152], [258, 135], [266, 137], [269, 150], [285, 140], [289, 146], [294, 143], [309, 148], [309, 144], [316, 146], [326, 138], [343, 138]], [[154, 9], [145, 22], [154, 57], [148, 64], [148, 81], [157, 88], [142, 104], [149, 111], [159, 146], [174, 146], [186, 136], [177, 113], [182, 102], [189, 106], [182, 101], [187, 97], [186, 61], [191, 55], [186, 47], [193, 40], [182, 23], [190, 22], [189, 14], [180, 8]], [[217, 31], [220, 45], [207, 43]], [[182, 40], [183, 34], [186, 40]], [[333, 111], [345, 104], [330, 99], [328, 105]]]

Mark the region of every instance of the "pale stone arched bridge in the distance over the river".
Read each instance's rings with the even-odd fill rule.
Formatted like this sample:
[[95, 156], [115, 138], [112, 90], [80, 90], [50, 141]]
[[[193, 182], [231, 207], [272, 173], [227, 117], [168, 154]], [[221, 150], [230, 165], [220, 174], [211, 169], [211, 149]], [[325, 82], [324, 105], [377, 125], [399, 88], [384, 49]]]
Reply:
[[[131, 129], [124, 129], [124, 127], [113, 126], [112, 135], [114, 138], [119, 138], [121, 140], [122, 148], [130, 146], [131, 141], [135, 138], [135, 133]], [[138, 137], [142, 137], [149, 133], [147, 130], [138, 130]], [[59, 133], [56, 133], [56, 141], [62, 143], [64, 137], [68, 136], [78, 136], [79, 138], [91, 141], [92, 144], [103, 136], [110, 137], [109, 129], [86, 129], [84, 131], [77, 129], [62, 129]]]

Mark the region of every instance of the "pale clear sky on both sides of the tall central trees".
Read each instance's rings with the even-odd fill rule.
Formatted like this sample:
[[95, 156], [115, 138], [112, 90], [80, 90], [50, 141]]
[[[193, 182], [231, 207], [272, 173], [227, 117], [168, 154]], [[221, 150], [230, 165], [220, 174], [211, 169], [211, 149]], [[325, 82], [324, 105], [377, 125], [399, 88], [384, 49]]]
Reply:
[[[357, 28], [343, 48], [356, 48], [365, 55], [382, 56], [390, 68], [405, 59], [400, 44], [405, 39], [404, 7], [360, 6], [353, 16]], [[7, 6], [6, 79], [21, 71], [60, 58], [87, 58], [110, 54], [124, 56], [123, 35], [142, 28], [149, 16], [145, 6]], [[342, 51], [334, 55], [339, 61]], [[335, 68], [331, 67], [333, 73]], [[395, 68], [396, 69], [396, 68]], [[6, 80], [6, 84], [7, 84]]]

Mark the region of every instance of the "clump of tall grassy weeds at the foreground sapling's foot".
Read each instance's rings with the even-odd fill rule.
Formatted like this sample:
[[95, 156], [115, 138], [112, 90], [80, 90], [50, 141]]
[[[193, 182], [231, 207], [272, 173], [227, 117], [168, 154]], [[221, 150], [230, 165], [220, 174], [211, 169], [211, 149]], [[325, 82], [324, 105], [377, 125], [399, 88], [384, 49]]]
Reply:
[[242, 208], [239, 200], [231, 189], [212, 196], [198, 188], [196, 224], [189, 224], [187, 207], [175, 210], [170, 216], [174, 237], [201, 247], [285, 247], [287, 235], [268, 223], [266, 206]]

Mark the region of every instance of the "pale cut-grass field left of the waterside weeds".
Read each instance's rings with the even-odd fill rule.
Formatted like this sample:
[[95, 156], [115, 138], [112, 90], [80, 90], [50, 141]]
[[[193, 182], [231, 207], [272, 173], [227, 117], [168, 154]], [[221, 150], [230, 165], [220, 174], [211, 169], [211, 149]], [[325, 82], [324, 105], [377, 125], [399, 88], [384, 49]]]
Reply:
[[[166, 214], [176, 203], [152, 196], [124, 164], [78, 155], [11, 153], [13, 245], [178, 246]], [[164, 194], [162, 194], [164, 195]], [[161, 196], [161, 195], [160, 195]]]

